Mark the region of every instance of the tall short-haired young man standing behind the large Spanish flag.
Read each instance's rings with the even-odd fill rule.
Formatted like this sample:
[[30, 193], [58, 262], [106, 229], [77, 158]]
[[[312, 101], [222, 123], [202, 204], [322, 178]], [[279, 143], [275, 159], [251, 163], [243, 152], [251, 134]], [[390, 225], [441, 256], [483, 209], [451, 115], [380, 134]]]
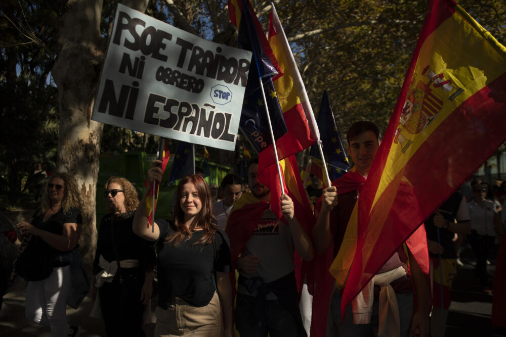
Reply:
[[[313, 229], [315, 253], [322, 254], [333, 242], [334, 256], [338, 256], [336, 260], [341, 258], [341, 251], [348, 252], [344, 261], [341, 261], [343, 264], [351, 263], [354, 258], [355, 249], [350, 246], [345, 233], [378, 151], [379, 130], [371, 122], [356, 122], [348, 130], [347, 140], [348, 153], [355, 166], [336, 179], [332, 186], [324, 189], [322, 201], [316, 205], [317, 220]], [[413, 289], [416, 301], [413, 299]], [[406, 254], [400, 247], [346, 307], [344, 320], [341, 313], [341, 286], [334, 290], [330, 299], [333, 325], [338, 327], [340, 335], [345, 336], [369, 336], [371, 332], [384, 336], [425, 336], [429, 320], [428, 289], [416, 259], [409, 250]]]

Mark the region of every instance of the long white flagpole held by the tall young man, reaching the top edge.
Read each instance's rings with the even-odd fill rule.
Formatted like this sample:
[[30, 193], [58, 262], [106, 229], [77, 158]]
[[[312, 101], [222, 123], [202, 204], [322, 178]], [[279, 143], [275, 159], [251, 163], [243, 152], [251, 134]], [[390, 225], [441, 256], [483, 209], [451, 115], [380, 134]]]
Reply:
[[281, 43], [281, 47], [283, 48], [283, 52], [286, 57], [286, 62], [288, 63], [289, 69], [293, 70], [290, 72], [290, 75], [293, 79], [293, 84], [296, 86], [297, 91], [299, 93], [311, 133], [313, 134], [314, 138], [317, 139], [316, 142], [318, 143], [318, 149], [320, 151], [320, 156], [325, 171], [325, 177], [327, 179], [327, 185], [330, 186], [331, 181], [330, 177], [328, 176], [325, 157], [323, 156], [322, 143], [320, 140], [320, 130], [318, 129], [318, 125], [316, 124], [313, 108], [311, 107], [311, 103], [309, 102], [308, 93], [306, 92], [304, 82], [302, 81], [301, 73], [299, 72], [297, 62], [293, 57], [293, 53], [291, 52], [290, 44], [288, 43], [288, 39], [286, 38], [286, 35], [284, 33], [283, 26], [281, 26], [281, 21], [279, 21], [278, 13], [276, 12], [274, 3], [271, 3], [271, 6], [272, 6], [273, 25], [274, 28], [276, 29], [276, 34], [282, 36], [282, 38], [279, 39], [279, 42]]

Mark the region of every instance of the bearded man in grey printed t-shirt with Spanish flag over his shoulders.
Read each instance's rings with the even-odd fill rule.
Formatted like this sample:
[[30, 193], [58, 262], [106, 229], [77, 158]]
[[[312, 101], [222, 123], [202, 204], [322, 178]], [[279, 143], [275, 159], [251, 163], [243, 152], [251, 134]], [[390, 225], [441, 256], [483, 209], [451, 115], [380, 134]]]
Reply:
[[[244, 193], [235, 203], [226, 228], [232, 265], [239, 271], [235, 326], [241, 337], [306, 336], [294, 249], [311, 260], [311, 238], [295, 217], [290, 197], [281, 196], [281, 218], [271, 211], [271, 191], [257, 175], [258, 163], [253, 162], [248, 169], [252, 193]], [[235, 273], [231, 278], [235, 281]]]

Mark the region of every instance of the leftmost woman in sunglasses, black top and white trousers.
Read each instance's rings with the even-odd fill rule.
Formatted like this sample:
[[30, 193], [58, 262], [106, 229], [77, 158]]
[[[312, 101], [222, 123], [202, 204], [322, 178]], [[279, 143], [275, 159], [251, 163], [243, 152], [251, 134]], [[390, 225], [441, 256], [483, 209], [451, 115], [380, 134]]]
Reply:
[[43, 193], [31, 222], [17, 225], [22, 244], [15, 273], [28, 281], [26, 318], [50, 326], [53, 337], [75, 336], [78, 327], [67, 324], [66, 302], [72, 290], [71, 261], [78, 254], [82, 202], [74, 178], [66, 173], [53, 174]]

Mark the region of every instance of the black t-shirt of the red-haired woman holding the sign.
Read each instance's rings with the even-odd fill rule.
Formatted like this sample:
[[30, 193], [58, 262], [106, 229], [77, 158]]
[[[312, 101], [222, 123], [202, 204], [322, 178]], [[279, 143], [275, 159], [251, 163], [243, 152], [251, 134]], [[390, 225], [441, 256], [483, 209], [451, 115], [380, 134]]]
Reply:
[[209, 304], [215, 293], [214, 271], [230, 271], [230, 244], [227, 234], [219, 229], [214, 242], [207, 245], [194, 245], [203, 230], [192, 232], [188, 240], [176, 247], [174, 242], [163, 244], [173, 231], [167, 220], [155, 221], [160, 228], [157, 240], [158, 251], [158, 306], [167, 309], [170, 302], [179, 297], [195, 307]]

